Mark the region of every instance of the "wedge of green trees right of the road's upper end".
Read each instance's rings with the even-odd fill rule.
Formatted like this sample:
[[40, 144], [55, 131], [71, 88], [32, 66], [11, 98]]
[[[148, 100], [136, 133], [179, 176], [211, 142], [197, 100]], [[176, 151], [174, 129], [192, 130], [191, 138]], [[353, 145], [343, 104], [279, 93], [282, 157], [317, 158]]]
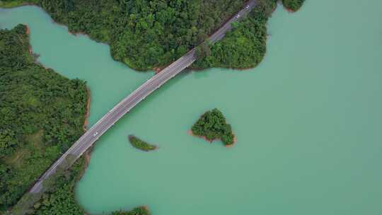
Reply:
[[249, 16], [233, 24], [233, 29], [222, 40], [212, 46], [207, 42], [199, 45], [198, 60], [192, 67], [246, 69], [257, 66], [267, 50], [267, 20], [276, 6], [276, 0], [260, 1]]

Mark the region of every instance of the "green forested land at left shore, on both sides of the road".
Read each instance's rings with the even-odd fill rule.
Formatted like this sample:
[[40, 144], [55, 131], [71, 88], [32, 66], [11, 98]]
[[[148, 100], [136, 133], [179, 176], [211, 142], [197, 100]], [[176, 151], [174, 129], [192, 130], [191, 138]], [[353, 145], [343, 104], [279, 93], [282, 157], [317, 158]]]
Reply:
[[[83, 215], [74, 185], [87, 166], [84, 156], [58, 170], [44, 184], [45, 194], [24, 194], [83, 134], [90, 103], [84, 81], [66, 79], [35, 62], [28, 32], [25, 25], [0, 30], [0, 213]], [[139, 207], [115, 213], [149, 211]]]

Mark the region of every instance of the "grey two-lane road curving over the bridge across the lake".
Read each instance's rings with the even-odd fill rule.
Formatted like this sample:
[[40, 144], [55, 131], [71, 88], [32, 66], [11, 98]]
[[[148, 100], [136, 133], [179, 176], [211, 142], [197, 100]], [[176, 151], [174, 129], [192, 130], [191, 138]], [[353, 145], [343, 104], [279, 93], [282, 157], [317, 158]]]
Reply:
[[[248, 1], [245, 7], [236, 13], [229, 21], [219, 28], [213, 35], [209, 37], [209, 41], [214, 43], [226, 35], [226, 32], [231, 29], [231, 23], [238, 21], [246, 14], [248, 14], [257, 5], [256, 0]], [[69, 165], [74, 163], [77, 158], [79, 158], [87, 149], [89, 149], [99, 138], [102, 136], [110, 127], [112, 127], [115, 122], [120, 120], [127, 112], [132, 110], [141, 100], [144, 100], [148, 95], [154, 92], [157, 88], [161, 87], [168, 80], [172, 79], [174, 76], [179, 74], [185, 68], [190, 66], [195, 62], [195, 49], [191, 50], [183, 57], [180, 57], [177, 61], [173, 62], [160, 73], [153, 76], [151, 79], [146, 81], [144, 84], [139, 86], [137, 90], [130, 93], [125, 99], [120, 103], [115, 105], [112, 110], [106, 113], [96, 124], [93, 125], [88, 131], [83, 134], [79, 140], [77, 140], [56, 162], [50, 166], [50, 168], [35, 182], [35, 185], [30, 189], [29, 192], [37, 193], [42, 191], [42, 182], [49, 178], [50, 175], [56, 172], [57, 167], [66, 161], [67, 156], [74, 156], [74, 160], [70, 161]], [[67, 161], [66, 161], [67, 162]]]

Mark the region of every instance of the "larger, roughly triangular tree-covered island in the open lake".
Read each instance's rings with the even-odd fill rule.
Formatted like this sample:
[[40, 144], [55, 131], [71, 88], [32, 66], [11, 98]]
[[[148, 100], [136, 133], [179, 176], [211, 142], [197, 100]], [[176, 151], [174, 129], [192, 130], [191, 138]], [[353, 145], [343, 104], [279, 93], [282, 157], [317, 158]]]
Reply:
[[221, 139], [226, 146], [235, 143], [235, 136], [230, 124], [220, 110], [214, 108], [205, 112], [191, 128], [192, 134], [204, 136], [209, 141]]

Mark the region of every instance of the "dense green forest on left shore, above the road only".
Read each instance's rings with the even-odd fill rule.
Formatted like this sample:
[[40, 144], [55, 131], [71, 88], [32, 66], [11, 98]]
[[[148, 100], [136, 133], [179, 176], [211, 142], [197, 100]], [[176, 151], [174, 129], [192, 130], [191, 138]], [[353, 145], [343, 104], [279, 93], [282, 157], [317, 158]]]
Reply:
[[0, 208], [83, 133], [86, 83], [35, 64], [26, 26], [0, 30]]

